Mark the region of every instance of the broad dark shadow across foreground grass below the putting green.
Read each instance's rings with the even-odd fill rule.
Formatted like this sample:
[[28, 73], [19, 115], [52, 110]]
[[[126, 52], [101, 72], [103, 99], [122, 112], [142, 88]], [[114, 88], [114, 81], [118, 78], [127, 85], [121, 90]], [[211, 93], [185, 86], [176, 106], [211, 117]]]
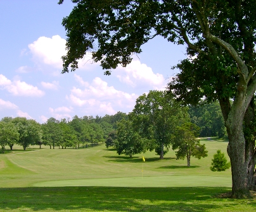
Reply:
[[225, 187], [13, 187], [0, 188], [0, 211], [245, 211], [256, 200], [222, 199]]

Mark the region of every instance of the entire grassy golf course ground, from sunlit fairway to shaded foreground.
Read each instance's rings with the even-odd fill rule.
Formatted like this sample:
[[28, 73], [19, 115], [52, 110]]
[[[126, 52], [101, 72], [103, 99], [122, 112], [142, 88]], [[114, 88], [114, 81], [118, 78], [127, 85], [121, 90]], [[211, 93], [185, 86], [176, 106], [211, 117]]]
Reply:
[[255, 211], [255, 194], [227, 197], [230, 168], [210, 170], [216, 151], [226, 154], [227, 142], [201, 143], [208, 156], [191, 158], [191, 167], [171, 149], [159, 160], [154, 151], [129, 158], [105, 144], [6, 148], [0, 154], [0, 211]]

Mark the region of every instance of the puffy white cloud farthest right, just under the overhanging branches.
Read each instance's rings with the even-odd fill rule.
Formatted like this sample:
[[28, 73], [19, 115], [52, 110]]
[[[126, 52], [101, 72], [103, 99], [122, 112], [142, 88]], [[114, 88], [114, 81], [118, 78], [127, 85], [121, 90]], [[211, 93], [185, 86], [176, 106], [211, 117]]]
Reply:
[[162, 74], [153, 73], [152, 69], [140, 61], [134, 60], [125, 68], [118, 66], [113, 71], [114, 76], [122, 82], [133, 88], [145, 86], [151, 89], [162, 90], [166, 85], [165, 78]]

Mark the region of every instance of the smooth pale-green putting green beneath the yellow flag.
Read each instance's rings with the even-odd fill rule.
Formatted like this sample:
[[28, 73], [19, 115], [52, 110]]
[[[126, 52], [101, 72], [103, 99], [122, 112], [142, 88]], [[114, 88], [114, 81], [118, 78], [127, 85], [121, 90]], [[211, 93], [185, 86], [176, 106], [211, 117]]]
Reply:
[[54, 180], [37, 182], [35, 187], [108, 186], [108, 187], [231, 187], [231, 177], [160, 176], [110, 179]]

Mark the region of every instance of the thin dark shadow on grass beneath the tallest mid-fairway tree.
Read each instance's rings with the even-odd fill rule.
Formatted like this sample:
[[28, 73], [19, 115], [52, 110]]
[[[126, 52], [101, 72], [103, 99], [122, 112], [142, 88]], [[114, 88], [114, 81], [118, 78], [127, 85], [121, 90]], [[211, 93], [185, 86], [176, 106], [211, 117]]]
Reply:
[[[132, 156], [132, 158], [130, 158], [129, 156], [103, 156], [103, 157], [113, 158], [113, 160], [109, 160], [112, 162], [120, 162], [120, 163], [125, 163], [125, 162], [141, 163], [141, 162], [143, 162], [143, 159], [140, 156]], [[156, 162], [156, 161], [174, 160], [174, 159], [176, 159], [176, 158], [163, 158], [162, 160], [160, 160], [160, 158], [158, 158], [158, 157], [145, 158], [146, 162]]]

